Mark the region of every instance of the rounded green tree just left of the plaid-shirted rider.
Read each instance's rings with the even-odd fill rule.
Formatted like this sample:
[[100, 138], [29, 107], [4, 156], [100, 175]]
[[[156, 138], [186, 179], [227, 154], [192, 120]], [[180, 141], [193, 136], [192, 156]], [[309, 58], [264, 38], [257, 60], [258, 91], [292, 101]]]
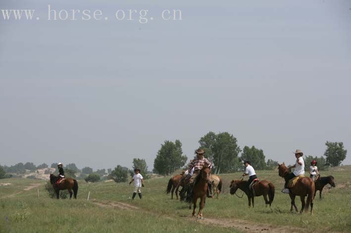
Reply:
[[183, 155], [182, 143], [179, 140], [164, 141], [153, 161], [154, 171], [158, 174], [169, 175], [181, 168], [187, 159], [187, 156]]

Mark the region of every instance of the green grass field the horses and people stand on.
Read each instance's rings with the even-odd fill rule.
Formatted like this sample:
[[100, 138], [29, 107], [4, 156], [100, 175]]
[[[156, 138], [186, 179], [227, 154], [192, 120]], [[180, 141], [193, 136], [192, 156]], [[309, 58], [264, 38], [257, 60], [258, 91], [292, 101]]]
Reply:
[[[222, 175], [223, 193], [219, 199], [206, 199], [205, 218], [235, 219], [274, 227], [289, 226], [295, 232], [351, 232], [351, 166], [323, 171], [322, 176], [333, 175], [336, 188], [325, 187], [323, 199], [314, 200], [313, 214], [290, 213], [290, 197], [280, 193], [283, 179], [277, 171], [258, 171], [260, 179], [273, 182], [276, 187], [272, 208], [265, 207], [262, 197], [255, 198], [255, 207], [248, 207], [248, 200], [229, 194], [229, 183], [241, 173]], [[240, 232], [234, 226], [224, 228], [194, 221], [188, 205], [170, 199], [165, 194], [170, 177], [145, 181], [142, 200], [129, 200], [133, 186], [128, 183], [79, 182], [77, 200], [55, 200], [48, 197], [44, 182], [29, 179], [5, 179], [0, 183], [0, 233], [2, 232]], [[24, 191], [26, 187], [39, 187]], [[37, 189], [40, 197], [37, 197]], [[87, 195], [90, 194], [88, 202]], [[241, 191], [238, 191], [239, 194]], [[8, 196], [14, 194], [12, 196]], [[126, 203], [135, 208], [109, 206], [109, 202]], [[100, 205], [97, 205], [100, 203]], [[301, 207], [300, 198], [297, 206]], [[123, 207], [123, 206], [122, 206]], [[138, 208], [138, 209], [137, 209]], [[196, 230], [196, 231], [195, 231]]]

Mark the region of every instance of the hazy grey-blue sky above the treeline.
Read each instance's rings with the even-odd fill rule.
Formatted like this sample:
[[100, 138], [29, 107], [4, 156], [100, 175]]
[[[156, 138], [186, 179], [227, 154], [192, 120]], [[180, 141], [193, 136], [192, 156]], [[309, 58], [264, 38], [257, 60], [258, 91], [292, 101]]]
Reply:
[[[47, 20], [48, 4], [108, 20]], [[0, 164], [149, 169], [165, 140], [209, 131], [292, 164], [344, 142], [351, 164], [349, 0], [16, 0], [0, 12]], [[148, 9], [146, 24], [116, 20]], [[162, 20], [180, 9], [182, 20]], [[79, 18], [79, 17], [78, 17]], [[349, 106], [349, 107], [348, 107]]]

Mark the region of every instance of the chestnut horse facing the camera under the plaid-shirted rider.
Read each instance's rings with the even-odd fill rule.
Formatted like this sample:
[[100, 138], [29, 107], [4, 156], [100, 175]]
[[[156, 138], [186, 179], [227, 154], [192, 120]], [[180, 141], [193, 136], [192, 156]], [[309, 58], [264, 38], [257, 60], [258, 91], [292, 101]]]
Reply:
[[187, 198], [188, 203], [190, 204], [191, 208], [191, 203], [193, 202], [193, 217], [195, 217], [195, 209], [196, 209], [196, 203], [198, 202], [198, 198], [200, 198], [200, 209], [198, 212], [198, 218], [202, 219], [202, 209], [205, 204], [206, 200], [206, 195], [207, 195], [207, 183], [209, 181], [209, 176], [211, 173], [211, 169], [207, 166], [203, 166], [202, 169], [199, 172], [199, 175], [196, 177], [196, 180], [194, 181], [194, 189], [193, 189], [193, 195], [190, 196], [190, 198]]

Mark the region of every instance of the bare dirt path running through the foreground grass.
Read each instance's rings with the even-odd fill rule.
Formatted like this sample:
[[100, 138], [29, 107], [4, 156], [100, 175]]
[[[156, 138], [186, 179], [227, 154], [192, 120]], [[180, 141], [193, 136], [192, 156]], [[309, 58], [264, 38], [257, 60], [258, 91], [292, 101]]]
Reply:
[[[143, 211], [145, 213], [153, 213], [149, 210], [141, 209], [139, 207], [136, 207], [131, 204], [123, 203], [123, 202], [114, 202], [114, 201], [93, 201], [93, 204], [96, 204], [100, 207], [103, 208], [113, 208], [117, 207], [120, 209], [127, 209], [127, 210], [139, 210]], [[167, 216], [167, 215], [162, 215], [160, 216], [162, 218], [167, 218], [167, 219], [174, 219], [172, 216]], [[184, 217], [187, 221], [196, 221], [201, 224], [206, 224], [206, 225], [218, 225], [221, 227], [225, 228], [234, 228], [238, 229], [243, 232], [247, 233], [257, 233], [257, 232], [269, 232], [269, 233], [301, 233], [303, 229], [297, 229], [297, 228], [289, 228], [289, 227], [277, 227], [277, 226], [272, 226], [268, 224], [260, 224], [260, 223], [252, 223], [246, 220], [240, 220], [240, 219], [216, 219], [216, 218], [203, 218], [203, 219], [198, 219], [198, 218], [193, 218], [190, 215], [189, 216], [181, 216]]]

